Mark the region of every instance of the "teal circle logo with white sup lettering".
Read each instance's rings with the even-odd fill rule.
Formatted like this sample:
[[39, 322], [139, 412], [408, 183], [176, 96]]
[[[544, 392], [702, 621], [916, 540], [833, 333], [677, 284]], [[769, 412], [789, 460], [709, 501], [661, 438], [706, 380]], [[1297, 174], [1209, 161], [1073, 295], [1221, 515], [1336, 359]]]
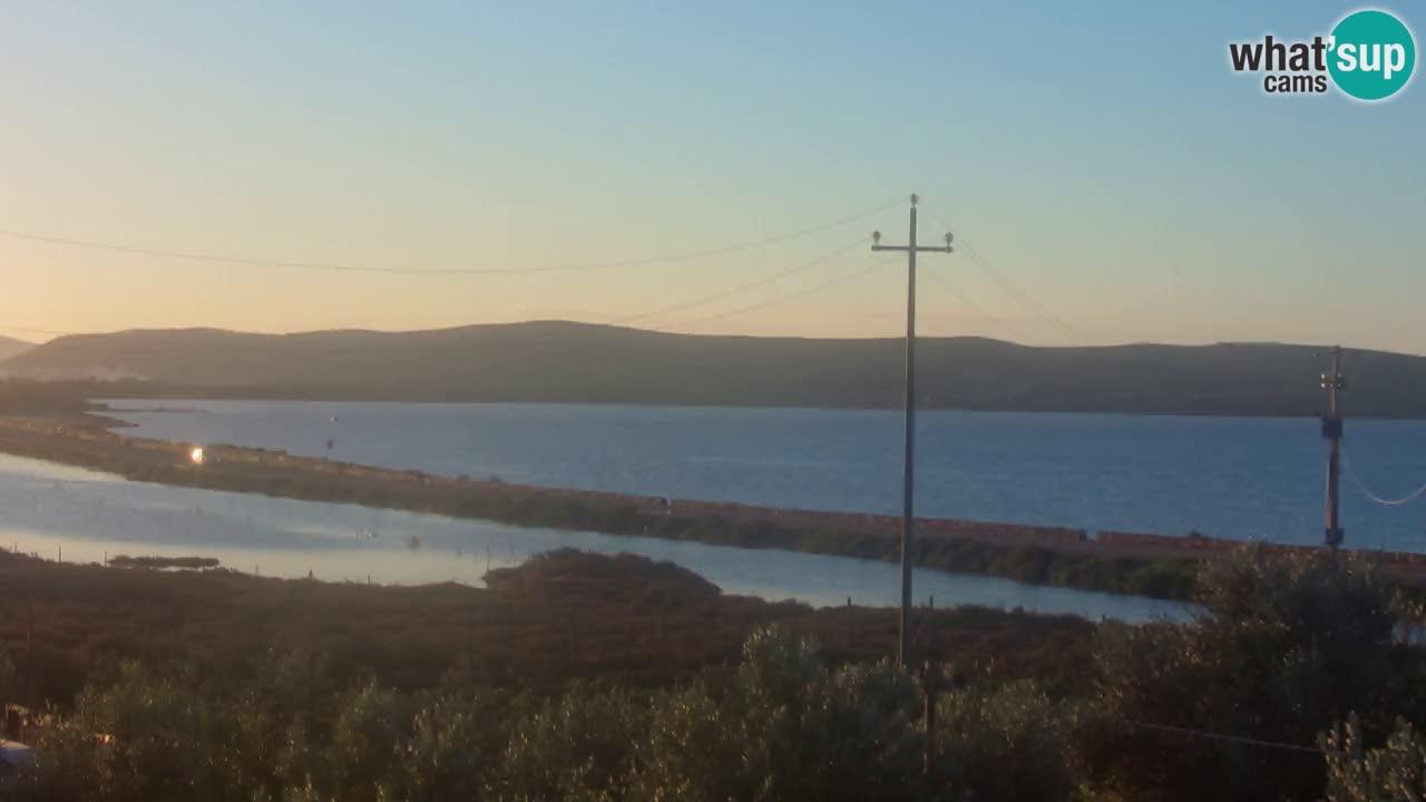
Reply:
[[1332, 29], [1328, 71], [1338, 88], [1358, 100], [1385, 100], [1416, 67], [1410, 29], [1386, 11], [1353, 11]]

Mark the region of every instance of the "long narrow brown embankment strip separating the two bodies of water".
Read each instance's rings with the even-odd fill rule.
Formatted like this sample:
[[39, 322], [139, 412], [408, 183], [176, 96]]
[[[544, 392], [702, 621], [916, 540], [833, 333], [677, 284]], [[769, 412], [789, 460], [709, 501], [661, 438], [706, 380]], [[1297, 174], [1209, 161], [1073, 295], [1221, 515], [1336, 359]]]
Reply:
[[[188, 445], [125, 437], [128, 424], [96, 408], [83, 415], [0, 417], [0, 452], [93, 468], [125, 479], [361, 504], [518, 527], [597, 531], [742, 548], [900, 559], [900, 518], [660, 499], [399, 471], [282, 451], [210, 445], [195, 465]], [[1206, 537], [917, 519], [917, 565], [1067, 587], [1184, 601], [1196, 564], [1241, 545]], [[1272, 547], [1285, 551], [1305, 547]], [[1370, 552], [1378, 554], [1378, 552]], [[1386, 574], [1426, 582], [1426, 555], [1380, 554]]]

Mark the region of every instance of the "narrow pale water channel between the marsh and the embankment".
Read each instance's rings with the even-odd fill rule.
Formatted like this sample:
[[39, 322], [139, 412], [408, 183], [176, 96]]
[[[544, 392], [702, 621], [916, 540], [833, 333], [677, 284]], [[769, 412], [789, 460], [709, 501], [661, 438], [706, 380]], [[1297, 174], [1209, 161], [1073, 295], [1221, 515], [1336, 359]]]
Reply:
[[[848, 597], [858, 605], [894, 605], [900, 598], [900, 568], [884, 562], [173, 488], [9, 455], [0, 455], [0, 547], [48, 559], [63, 551], [66, 562], [101, 562], [106, 554], [195, 555], [270, 577], [311, 571], [325, 581], [479, 585], [488, 567], [573, 547], [667, 559], [727, 594], [817, 606], [846, 604]], [[918, 571], [915, 589], [918, 599], [934, 597], [941, 606], [978, 604], [1125, 621], [1185, 615], [1185, 606], [1172, 602], [938, 571]]]

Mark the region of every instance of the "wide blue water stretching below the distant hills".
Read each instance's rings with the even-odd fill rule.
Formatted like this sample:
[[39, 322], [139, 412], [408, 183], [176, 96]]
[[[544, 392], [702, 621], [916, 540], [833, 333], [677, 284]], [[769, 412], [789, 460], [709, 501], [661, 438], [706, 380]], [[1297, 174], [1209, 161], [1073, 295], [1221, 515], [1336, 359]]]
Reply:
[[[898, 514], [896, 411], [116, 401], [138, 434], [284, 448], [565, 488]], [[335, 421], [332, 418], [337, 418]], [[1322, 542], [1325, 445], [1310, 418], [923, 412], [921, 515]], [[1426, 482], [1426, 421], [1348, 421], [1380, 495]], [[1426, 551], [1426, 501], [1383, 508], [1343, 479], [1348, 545]]]

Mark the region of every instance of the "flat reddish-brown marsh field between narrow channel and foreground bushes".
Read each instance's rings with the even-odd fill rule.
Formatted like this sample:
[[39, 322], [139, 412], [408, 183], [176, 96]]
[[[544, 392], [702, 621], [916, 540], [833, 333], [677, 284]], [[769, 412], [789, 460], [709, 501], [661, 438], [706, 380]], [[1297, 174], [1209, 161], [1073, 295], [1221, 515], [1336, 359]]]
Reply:
[[[0, 554], [0, 649], [31, 704], [66, 702], [121, 658], [242, 674], [270, 649], [327, 655], [335, 679], [396, 688], [475, 672], [495, 684], [610, 678], [660, 685], [734, 661], [780, 622], [830, 659], [891, 655], [896, 611], [811, 609], [729, 597], [672, 564], [552, 552], [491, 577], [492, 589], [272, 579], [54, 564]], [[923, 616], [927, 656], [1074, 684], [1092, 625], [980, 608]]]

